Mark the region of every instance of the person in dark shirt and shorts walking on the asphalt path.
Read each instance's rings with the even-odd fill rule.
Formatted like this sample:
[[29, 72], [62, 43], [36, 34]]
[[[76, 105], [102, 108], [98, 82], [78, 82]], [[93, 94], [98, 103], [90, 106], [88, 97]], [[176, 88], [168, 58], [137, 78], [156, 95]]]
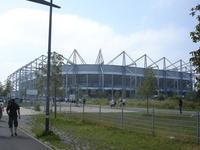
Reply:
[[8, 114], [8, 126], [10, 128], [11, 136], [13, 136], [13, 123], [14, 123], [14, 131], [15, 136], [17, 136], [17, 127], [18, 127], [18, 120], [17, 117], [20, 119], [20, 107], [15, 102], [15, 99], [11, 99], [8, 102], [6, 112]]

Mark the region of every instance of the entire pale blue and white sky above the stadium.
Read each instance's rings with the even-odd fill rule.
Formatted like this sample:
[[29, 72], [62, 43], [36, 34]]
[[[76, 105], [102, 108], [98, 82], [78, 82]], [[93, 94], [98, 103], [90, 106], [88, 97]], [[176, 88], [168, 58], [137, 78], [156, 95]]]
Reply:
[[[198, 45], [190, 38], [199, 0], [54, 0], [52, 51], [69, 58], [76, 49], [95, 63], [99, 49], [105, 63], [122, 51], [136, 60], [188, 62]], [[41, 55], [47, 55], [49, 8], [26, 0], [0, 5], [0, 82]], [[120, 61], [120, 60], [119, 60]], [[128, 64], [127, 60], [127, 64]]]

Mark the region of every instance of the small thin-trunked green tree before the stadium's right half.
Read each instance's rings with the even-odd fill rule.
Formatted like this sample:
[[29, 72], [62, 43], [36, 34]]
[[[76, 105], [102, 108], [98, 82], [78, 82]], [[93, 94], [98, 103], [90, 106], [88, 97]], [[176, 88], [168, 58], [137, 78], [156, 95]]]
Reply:
[[139, 87], [139, 94], [146, 97], [147, 100], [147, 113], [149, 113], [149, 97], [154, 95], [156, 91], [156, 77], [153, 70], [147, 68], [144, 70], [144, 81]]

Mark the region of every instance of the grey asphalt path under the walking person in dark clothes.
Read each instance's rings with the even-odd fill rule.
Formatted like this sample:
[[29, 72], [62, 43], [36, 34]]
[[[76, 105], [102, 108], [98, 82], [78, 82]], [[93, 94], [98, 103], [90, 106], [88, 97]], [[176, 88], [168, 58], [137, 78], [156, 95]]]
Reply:
[[11, 136], [5, 120], [0, 120], [0, 150], [51, 150], [21, 130]]

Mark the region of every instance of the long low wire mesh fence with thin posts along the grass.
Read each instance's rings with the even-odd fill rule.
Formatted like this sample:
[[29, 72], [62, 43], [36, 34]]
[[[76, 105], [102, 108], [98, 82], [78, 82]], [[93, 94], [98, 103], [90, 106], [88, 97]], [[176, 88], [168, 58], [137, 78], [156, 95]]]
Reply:
[[[52, 111], [53, 105], [52, 105]], [[101, 105], [57, 103], [57, 111], [134, 132], [160, 135], [185, 142], [200, 143], [200, 113], [150, 108], [110, 108]]]

